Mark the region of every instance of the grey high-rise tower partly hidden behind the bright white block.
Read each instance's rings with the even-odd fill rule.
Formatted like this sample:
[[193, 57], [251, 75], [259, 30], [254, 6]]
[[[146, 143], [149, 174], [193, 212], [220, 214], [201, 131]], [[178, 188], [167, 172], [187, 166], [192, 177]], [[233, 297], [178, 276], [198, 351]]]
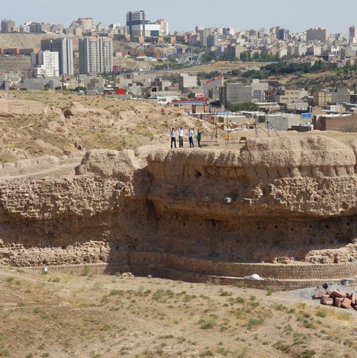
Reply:
[[59, 74], [74, 74], [73, 41], [71, 39], [41, 40], [42, 51], [59, 54]]

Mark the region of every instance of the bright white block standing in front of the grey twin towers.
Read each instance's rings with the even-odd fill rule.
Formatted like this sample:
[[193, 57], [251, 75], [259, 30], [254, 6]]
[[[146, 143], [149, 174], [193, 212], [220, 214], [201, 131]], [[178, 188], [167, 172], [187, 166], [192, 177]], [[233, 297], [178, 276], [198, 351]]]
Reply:
[[31, 54], [31, 69], [33, 76], [58, 77], [59, 53], [39, 51]]

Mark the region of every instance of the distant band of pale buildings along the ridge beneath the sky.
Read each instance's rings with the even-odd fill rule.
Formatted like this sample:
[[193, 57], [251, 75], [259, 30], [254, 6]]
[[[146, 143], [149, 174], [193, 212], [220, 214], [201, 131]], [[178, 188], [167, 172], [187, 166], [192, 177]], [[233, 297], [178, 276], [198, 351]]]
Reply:
[[[357, 32], [351, 26], [346, 34], [329, 34], [327, 29], [317, 27], [306, 31], [293, 32], [283, 26], [271, 29], [250, 29], [236, 31], [233, 27], [205, 28], [196, 26], [194, 31], [169, 33], [169, 21], [158, 19], [149, 21], [149, 14], [144, 11], [126, 13], [126, 23], [106, 25], [96, 24], [91, 17], [80, 17], [68, 27], [61, 24], [31, 22], [16, 26], [15, 21], [1, 21], [1, 32], [66, 34], [86, 37], [104, 37], [118, 41], [137, 41], [154, 44], [186, 44], [198, 46], [211, 58], [230, 59], [248, 58], [284, 58], [306, 57], [323, 58], [335, 61], [340, 66], [353, 65], [357, 62]], [[108, 44], [108, 42], [106, 43]], [[99, 46], [100, 47], [100, 46]], [[0, 54], [29, 54], [29, 49], [0, 49]], [[132, 55], [132, 54], [131, 54]], [[138, 54], [136, 54], [137, 56]], [[161, 57], [162, 52], [153, 51], [154, 57]], [[90, 66], [89, 66], [90, 67]], [[99, 66], [100, 67], [100, 66]]]

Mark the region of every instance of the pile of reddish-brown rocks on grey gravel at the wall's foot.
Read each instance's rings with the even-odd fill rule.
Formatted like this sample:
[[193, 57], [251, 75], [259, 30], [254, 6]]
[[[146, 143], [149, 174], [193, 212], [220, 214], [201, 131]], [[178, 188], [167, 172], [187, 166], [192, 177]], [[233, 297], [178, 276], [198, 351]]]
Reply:
[[318, 289], [314, 297], [320, 299], [320, 303], [325, 306], [334, 306], [338, 308], [351, 308], [357, 310], [357, 294], [344, 293], [339, 289]]

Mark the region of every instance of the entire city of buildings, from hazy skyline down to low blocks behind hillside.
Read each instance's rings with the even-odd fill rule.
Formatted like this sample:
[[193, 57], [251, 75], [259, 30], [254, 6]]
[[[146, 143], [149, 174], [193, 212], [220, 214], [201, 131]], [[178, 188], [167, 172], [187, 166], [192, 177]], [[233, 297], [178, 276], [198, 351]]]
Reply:
[[[296, 61], [324, 59], [336, 61], [338, 66], [357, 63], [357, 32], [355, 26], [348, 34], [329, 34], [327, 29], [318, 27], [293, 33], [283, 26], [266, 29], [236, 31], [232, 27], [204, 28], [196, 26], [194, 31], [169, 34], [169, 23], [164, 19], [149, 21], [146, 11], [129, 11], [126, 23], [95, 24], [90, 17], [73, 21], [70, 26], [27, 22], [16, 26], [12, 20], [1, 21], [3, 33], [47, 33], [57, 34], [41, 40], [39, 49], [0, 49], [0, 54], [29, 55], [31, 64], [24, 78], [13, 72], [0, 76], [2, 89], [76, 89], [85, 88], [86, 94], [109, 94], [119, 98], [141, 98], [159, 104], [188, 106], [194, 116], [207, 119], [211, 116], [208, 102], [216, 101], [222, 108], [231, 104], [253, 102], [263, 113], [271, 116], [269, 121], [280, 128], [282, 114], [291, 116], [285, 125], [296, 125], [312, 119], [312, 109], [320, 108], [322, 116], [347, 115], [356, 111], [357, 95], [346, 88], [316, 91], [309, 94], [306, 89], [287, 89], [276, 81], [253, 79], [250, 84], [224, 81], [223, 76], [212, 79], [198, 79], [193, 74], [181, 73], [178, 81], [157, 77], [149, 73], [117, 73], [114, 66], [114, 40], [137, 41], [141, 46], [130, 48], [125, 56], [145, 57], [151, 49], [152, 56], [161, 57], [163, 51], [156, 53], [155, 46], [145, 44], [176, 44], [176, 54], [183, 61], [193, 62], [193, 51], [184, 54], [183, 45], [201, 52], [213, 54], [211, 58], [240, 59], [242, 54], [250, 58], [261, 58], [268, 54], [276, 58], [284, 56]], [[58, 36], [61, 34], [63, 36]], [[76, 38], [76, 36], [78, 38]], [[78, 41], [78, 51], [74, 51], [74, 40]], [[186, 48], [186, 49], [187, 49]], [[199, 53], [200, 51], [198, 51]], [[169, 56], [166, 54], [166, 56]], [[197, 54], [195, 55], [197, 56]], [[199, 55], [198, 55], [199, 56]], [[79, 73], [75, 73], [74, 62], [78, 57]], [[246, 57], [245, 57], [246, 59]], [[111, 78], [98, 74], [113, 74]], [[191, 99], [188, 99], [188, 94]], [[203, 104], [203, 112], [196, 106]], [[193, 110], [194, 106], [194, 110]], [[244, 117], [244, 116], [243, 116]], [[260, 117], [259, 117], [260, 118]], [[265, 117], [266, 118], [266, 117]], [[286, 117], [287, 118], [287, 117]], [[286, 119], [284, 117], [284, 120]], [[292, 118], [295, 118], [294, 120]], [[298, 119], [298, 120], [297, 120]], [[243, 119], [242, 119], [243, 120]], [[257, 117], [258, 120], [258, 117]], [[290, 123], [290, 124], [289, 124]], [[323, 124], [325, 123], [325, 124]], [[327, 121], [316, 121], [321, 128]], [[357, 126], [357, 117], [356, 117]]]

